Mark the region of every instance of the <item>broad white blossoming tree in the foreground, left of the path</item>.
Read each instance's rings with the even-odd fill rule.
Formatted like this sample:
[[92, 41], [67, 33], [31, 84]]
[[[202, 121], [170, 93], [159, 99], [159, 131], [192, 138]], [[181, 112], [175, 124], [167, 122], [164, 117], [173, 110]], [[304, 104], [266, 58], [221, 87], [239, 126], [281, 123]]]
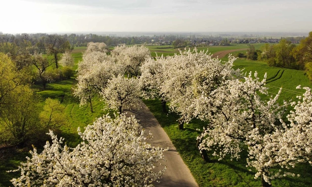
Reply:
[[164, 150], [146, 143], [133, 116], [103, 116], [78, 133], [83, 142], [71, 149], [50, 131], [52, 144], [30, 152], [14, 186], [153, 186], [166, 169]]

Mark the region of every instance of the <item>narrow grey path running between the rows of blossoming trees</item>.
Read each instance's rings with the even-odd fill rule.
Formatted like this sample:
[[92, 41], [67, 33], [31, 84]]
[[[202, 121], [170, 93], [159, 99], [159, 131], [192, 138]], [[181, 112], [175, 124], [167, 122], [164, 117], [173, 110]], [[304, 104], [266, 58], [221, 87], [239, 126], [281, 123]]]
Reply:
[[154, 185], [157, 187], [197, 187], [198, 184], [192, 176], [190, 169], [185, 165], [179, 153], [177, 153], [166, 132], [147, 106], [143, 102], [140, 105], [142, 107], [140, 110], [127, 112], [127, 115], [135, 115], [140, 120], [139, 123], [143, 128], [151, 131], [154, 138], [149, 140], [149, 143], [152, 146], [169, 149], [164, 152], [165, 160], [167, 160], [164, 164], [167, 166], [167, 169], [162, 179], [160, 179], [160, 183], [154, 183]]

